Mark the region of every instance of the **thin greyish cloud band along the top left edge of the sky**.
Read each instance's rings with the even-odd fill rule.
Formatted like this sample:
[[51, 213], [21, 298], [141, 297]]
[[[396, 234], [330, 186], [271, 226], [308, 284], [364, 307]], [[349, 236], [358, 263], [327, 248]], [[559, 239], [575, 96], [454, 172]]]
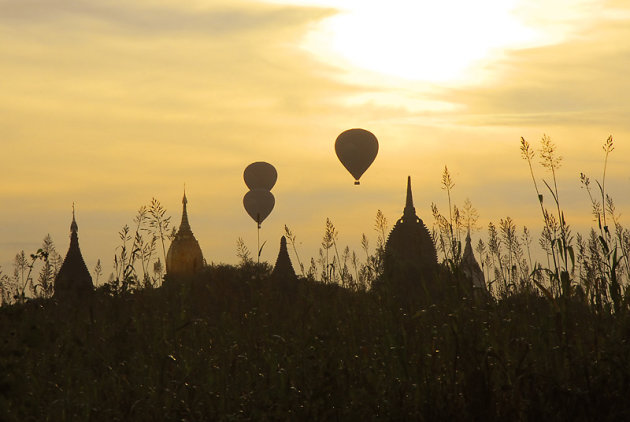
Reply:
[[5, 0], [0, 22], [35, 25], [55, 22], [105, 24], [139, 34], [201, 32], [224, 35], [274, 27], [300, 26], [334, 11], [324, 8], [270, 6], [258, 3], [215, 2], [212, 7], [183, 3], [115, 0]]

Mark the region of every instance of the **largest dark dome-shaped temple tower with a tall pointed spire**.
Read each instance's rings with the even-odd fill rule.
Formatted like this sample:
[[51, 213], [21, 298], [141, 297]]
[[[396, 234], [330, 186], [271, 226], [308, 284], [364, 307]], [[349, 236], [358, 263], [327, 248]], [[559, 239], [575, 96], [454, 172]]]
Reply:
[[424, 222], [416, 215], [407, 178], [407, 199], [402, 217], [396, 222], [385, 244], [385, 274], [392, 277], [430, 278], [437, 268], [437, 252]]

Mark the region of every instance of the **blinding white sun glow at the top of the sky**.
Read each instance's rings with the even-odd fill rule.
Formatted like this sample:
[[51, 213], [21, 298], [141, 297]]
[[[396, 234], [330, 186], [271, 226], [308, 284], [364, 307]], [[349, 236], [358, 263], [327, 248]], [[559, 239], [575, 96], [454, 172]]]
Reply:
[[550, 36], [518, 19], [517, 0], [282, 3], [339, 10], [304, 40], [303, 47], [321, 60], [412, 81], [470, 82], [478, 77], [475, 65]]

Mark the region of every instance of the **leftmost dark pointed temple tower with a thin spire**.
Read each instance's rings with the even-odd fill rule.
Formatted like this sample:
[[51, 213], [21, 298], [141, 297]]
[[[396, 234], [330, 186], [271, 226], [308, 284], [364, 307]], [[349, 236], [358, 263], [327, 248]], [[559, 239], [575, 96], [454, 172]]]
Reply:
[[92, 276], [85, 265], [79, 248], [79, 226], [74, 217], [72, 205], [72, 224], [70, 224], [70, 248], [66, 254], [57, 277], [55, 277], [55, 297], [83, 295], [94, 290]]

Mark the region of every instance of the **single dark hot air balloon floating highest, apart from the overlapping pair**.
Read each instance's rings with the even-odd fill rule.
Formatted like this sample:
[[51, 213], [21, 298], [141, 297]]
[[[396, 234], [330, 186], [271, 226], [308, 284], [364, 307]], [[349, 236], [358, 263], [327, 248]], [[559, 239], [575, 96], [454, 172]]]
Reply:
[[341, 164], [359, 184], [361, 175], [370, 167], [378, 154], [378, 140], [365, 129], [348, 129], [335, 141], [335, 152]]

